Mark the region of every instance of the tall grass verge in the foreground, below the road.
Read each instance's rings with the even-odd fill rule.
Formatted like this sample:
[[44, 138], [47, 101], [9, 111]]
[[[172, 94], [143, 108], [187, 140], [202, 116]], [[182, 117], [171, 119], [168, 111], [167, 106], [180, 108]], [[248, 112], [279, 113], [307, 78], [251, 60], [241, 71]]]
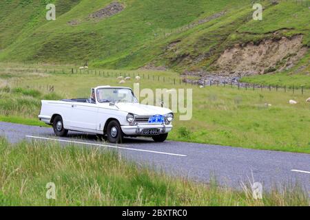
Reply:
[[[54, 142], [11, 145], [0, 138], [0, 206], [308, 206], [297, 186], [265, 192], [236, 191], [189, 179], [167, 177], [121, 159], [115, 151]], [[56, 186], [48, 200], [46, 184]]]

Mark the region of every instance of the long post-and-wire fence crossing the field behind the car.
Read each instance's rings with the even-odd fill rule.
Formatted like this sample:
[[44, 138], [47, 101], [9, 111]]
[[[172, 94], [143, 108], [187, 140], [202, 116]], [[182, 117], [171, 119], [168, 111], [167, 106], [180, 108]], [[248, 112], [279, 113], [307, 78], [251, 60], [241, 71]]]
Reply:
[[[263, 85], [263, 84], [251, 84], [251, 83], [226, 83], [218, 81], [209, 81], [205, 83], [205, 80], [190, 80], [182, 77], [169, 77], [169, 76], [158, 76], [152, 73], [138, 73], [138, 72], [126, 72], [126, 71], [107, 71], [101, 69], [79, 69], [79, 68], [70, 68], [70, 69], [19, 69], [22, 72], [37, 72], [37, 73], [46, 73], [46, 74], [65, 74], [68, 76], [92, 76], [92, 77], [102, 77], [102, 78], [114, 78], [116, 83], [120, 83], [121, 80], [135, 80], [136, 76], [140, 77], [140, 80], [149, 80], [151, 82], [157, 82], [170, 86], [181, 86], [181, 87], [199, 87], [203, 89], [205, 87], [227, 87], [234, 88], [242, 91], [278, 91], [291, 94], [310, 94], [310, 88], [304, 87], [302, 85], [290, 85], [290, 86], [280, 86], [280, 85]], [[19, 79], [19, 80], [22, 80]], [[125, 80], [126, 81], [126, 80]], [[22, 84], [22, 82], [15, 81], [16, 85]], [[37, 85], [39, 89], [46, 89], [47, 91], [54, 91], [54, 85]]]

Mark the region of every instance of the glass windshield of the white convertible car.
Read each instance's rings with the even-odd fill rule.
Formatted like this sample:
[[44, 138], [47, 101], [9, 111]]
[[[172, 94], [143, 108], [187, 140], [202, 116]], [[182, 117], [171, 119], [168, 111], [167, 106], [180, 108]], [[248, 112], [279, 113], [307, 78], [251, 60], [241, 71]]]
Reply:
[[98, 102], [138, 102], [131, 89], [103, 88], [97, 89]]

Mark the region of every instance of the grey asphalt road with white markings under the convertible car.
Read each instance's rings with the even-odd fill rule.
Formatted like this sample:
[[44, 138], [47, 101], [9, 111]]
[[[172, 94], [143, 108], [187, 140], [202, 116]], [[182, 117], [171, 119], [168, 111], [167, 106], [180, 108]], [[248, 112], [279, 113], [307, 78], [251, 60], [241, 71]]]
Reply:
[[222, 185], [241, 188], [241, 183], [260, 182], [266, 190], [301, 184], [310, 195], [310, 155], [261, 151], [230, 146], [166, 141], [158, 144], [147, 138], [128, 138], [114, 145], [98, 140], [96, 135], [69, 132], [56, 137], [52, 128], [0, 122], [0, 136], [10, 142], [21, 140], [56, 140], [116, 150], [127, 159], [165, 170], [169, 175], [208, 182], [211, 177]]

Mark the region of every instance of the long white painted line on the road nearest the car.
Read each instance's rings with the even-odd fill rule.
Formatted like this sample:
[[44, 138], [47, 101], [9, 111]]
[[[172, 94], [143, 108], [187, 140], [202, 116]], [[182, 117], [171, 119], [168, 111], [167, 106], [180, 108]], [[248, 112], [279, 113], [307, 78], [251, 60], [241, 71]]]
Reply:
[[130, 150], [130, 151], [143, 151], [147, 153], [158, 153], [158, 154], [165, 154], [165, 155], [172, 155], [172, 156], [178, 156], [178, 157], [187, 157], [187, 155], [182, 155], [182, 154], [177, 154], [177, 153], [166, 153], [166, 152], [161, 152], [161, 151], [148, 151], [148, 150], [143, 150], [143, 149], [135, 149], [135, 148], [127, 148], [127, 147], [121, 147], [121, 146], [112, 146], [112, 145], [107, 145], [107, 144], [93, 144], [93, 143], [88, 143], [88, 142], [76, 142], [72, 140], [62, 140], [62, 139], [55, 139], [55, 138], [48, 138], [48, 137], [36, 137], [36, 136], [31, 136], [31, 135], [25, 135], [25, 137], [30, 137], [34, 139], [42, 139], [42, 140], [56, 140], [59, 142], [70, 142], [74, 144], [86, 144], [86, 145], [93, 145], [93, 146], [101, 146], [101, 147], [110, 147], [110, 148], [118, 148], [118, 149], [123, 149], [123, 150]]

